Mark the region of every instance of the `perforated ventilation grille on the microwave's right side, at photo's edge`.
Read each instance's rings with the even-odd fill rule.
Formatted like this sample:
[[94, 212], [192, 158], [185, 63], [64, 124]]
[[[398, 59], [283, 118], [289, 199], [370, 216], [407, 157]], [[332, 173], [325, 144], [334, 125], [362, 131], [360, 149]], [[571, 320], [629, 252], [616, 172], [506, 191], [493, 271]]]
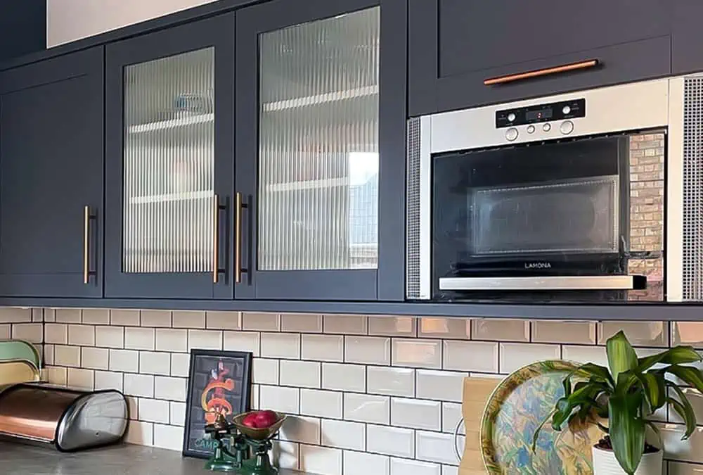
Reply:
[[685, 80], [683, 300], [703, 300], [703, 78]]

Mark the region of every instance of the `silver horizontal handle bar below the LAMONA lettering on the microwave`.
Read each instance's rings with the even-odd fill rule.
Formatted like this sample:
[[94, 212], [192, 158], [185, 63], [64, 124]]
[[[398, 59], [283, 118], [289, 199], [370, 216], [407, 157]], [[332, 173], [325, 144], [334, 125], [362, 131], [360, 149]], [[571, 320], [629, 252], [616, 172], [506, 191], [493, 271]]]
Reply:
[[443, 291], [569, 291], [632, 290], [631, 275], [548, 276], [548, 277], [444, 277], [439, 279]]

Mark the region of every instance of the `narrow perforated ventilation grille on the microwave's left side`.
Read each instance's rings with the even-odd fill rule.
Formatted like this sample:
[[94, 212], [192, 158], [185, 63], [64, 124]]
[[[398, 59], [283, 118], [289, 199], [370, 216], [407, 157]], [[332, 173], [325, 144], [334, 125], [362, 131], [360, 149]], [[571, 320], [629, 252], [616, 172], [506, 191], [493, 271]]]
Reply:
[[408, 120], [406, 296], [420, 298], [420, 119]]

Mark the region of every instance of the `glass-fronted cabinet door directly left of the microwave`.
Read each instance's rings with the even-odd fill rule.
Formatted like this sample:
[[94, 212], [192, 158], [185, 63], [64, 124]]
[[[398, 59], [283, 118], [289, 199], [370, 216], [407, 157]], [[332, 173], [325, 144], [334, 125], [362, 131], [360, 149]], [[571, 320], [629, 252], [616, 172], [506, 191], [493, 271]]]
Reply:
[[380, 65], [392, 66], [380, 61], [381, 15], [399, 8], [385, 4], [273, 0], [237, 13], [237, 298], [378, 297]]

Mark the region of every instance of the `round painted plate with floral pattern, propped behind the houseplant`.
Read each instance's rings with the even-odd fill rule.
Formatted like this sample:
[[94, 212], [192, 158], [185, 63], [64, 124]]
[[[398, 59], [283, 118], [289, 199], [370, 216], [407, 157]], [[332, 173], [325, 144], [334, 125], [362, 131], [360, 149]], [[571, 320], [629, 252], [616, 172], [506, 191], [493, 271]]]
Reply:
[[537, 362], [498, 385], [481, 423], [481, 449], [489, 474], [593, 474], [591, 448], [602, 437], [595, 424], [557, 432], [547, 423], [532, 452], [534, 432], [564, 395], [563, 379], [577, 367], [562, 360]]

